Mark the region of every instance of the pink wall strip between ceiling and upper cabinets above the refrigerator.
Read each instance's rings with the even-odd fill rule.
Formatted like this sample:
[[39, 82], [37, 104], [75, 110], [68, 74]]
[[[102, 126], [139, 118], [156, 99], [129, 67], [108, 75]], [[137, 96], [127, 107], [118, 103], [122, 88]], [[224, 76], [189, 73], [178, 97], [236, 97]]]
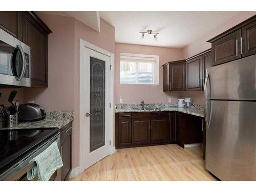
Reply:
[[201, 53], [209, 48], [211, 48], [211, 44], [209, 42], [206, 42], [207, 40], [211, 39], [212, 37], [215, 37], [222, 32], [230, 29], [231, 27], [236, 26], [237, 24], [243, 22], [247, 18], [253, 16], [256, 14], [256, 11], [242, 11], [236, 16], [230, 18], [225, 23], [223, 23], [221, 26], [216, 28], [215, 30], [212, 30], [211, 32], [203, 35], [199, 39], [191, 42], [191, 44], [187, 45], [183, 48], [183, 58], [187, 59], [191, 56], [194, 56], [198, 53]]

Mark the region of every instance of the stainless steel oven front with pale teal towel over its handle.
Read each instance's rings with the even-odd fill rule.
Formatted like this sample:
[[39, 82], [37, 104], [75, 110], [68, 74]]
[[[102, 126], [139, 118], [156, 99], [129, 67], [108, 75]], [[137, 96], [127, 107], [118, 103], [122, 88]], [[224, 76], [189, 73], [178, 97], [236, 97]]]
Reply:
[[[54, 141], [57, 142], [58, 148], [60, 150], [60, 133], [57, 132], [51, 138], [47, 139], [45, 142], [42, 142], [37, 146], [33, 151], [27, 154], [25, 157], [20, 159], [17, 163], [9, 167], [5, 173], [0, 175], [0, 181], [28, 181], [27, 172], [34, 166], [34, 161], [30, 162], [31, 159], [42, 153], [49, 147]], [[57, 169], [49, 181], [60, 181], [60, 168]], [[36, 176], [33, 181], [37, 181], [38, 177]]]

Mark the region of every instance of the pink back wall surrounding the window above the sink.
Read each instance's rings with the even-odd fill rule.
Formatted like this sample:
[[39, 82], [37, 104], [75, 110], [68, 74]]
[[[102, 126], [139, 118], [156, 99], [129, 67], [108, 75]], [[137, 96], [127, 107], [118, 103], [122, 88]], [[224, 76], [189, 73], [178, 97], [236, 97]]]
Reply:
[[[120, 84], [120, 53], [159, 55], [159, 85]], [[177, 102], [177, 98], [180, 97], [180, 92], [163, 92], [162, 65], [168, 61], [179, 59], [182, 59], [181, 49], [116, 43], [115, 103], [119, 103], [120, 96], [123, 98], [123, 103], [140, 103], [142, 99], [145, 103], [167, 103], [168, 98], [172, 98], [172, 102]]]

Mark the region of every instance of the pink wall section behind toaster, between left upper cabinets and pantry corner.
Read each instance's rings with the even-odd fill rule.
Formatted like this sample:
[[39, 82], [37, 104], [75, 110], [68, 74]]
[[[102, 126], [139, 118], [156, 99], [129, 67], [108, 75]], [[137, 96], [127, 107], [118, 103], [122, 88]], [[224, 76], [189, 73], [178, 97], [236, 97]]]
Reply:
[[25, 88], [24, 101], [34, 100], [47, 111], [74, 110], [74, 18], [40, 14], [48, 36], [48, 88]]

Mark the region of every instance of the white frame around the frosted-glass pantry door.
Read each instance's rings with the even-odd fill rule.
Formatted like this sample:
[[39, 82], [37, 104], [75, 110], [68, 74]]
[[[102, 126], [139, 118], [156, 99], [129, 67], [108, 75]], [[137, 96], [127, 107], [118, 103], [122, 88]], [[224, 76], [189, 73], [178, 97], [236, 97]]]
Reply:
[[[109, 140], [111, 141], [111, 146], [110, 146], [110, 151], [109, 151], [109, 155], [115, 153], [116, 151], [116, 147], [114, 145], [114, 113], [115, 113], [115, 108], [114, 108], [114, 54], [106, 51], [100, 47], [97, 47], [93, 44], [91, 44], [90, 42], [83, 40], [83, 39], [79, 39], [80, 41], [80, 65], [79, 65], [79, 73], [80, 73], [80, 77], [79, 77], [79, 172], [82, 173], [84, 171], [84, 167], [85, 167], [85, 163], [84, 163], [84, 147], [86, 146], [86, 141], [83, 139], [83, 136], [86, 134], [85, 130], [82, 129], [82, 125], [83, 125], [83, 121], [82, 119], [84, 118], [84, 114], [82, 114], [82, 108], [80, 107], [80, 104], [82, 103], [82, 90], [83, 90], [83, 86], [82, 86], [82, 81], [84, 81], [84, 73], [83, 73], [83, 63], [84, 63], [84, 55], [83, 55], [83, 48], [89, 48], [93, 51], [96, 51], [98, 53], [101, 53], [103, 55], [109, 56], [110, 57], [110, 63], [112, 65], [110, 74], [111, 74], [111, 78], [110, 78], [110, 103], [111, 103], [111, 111], [112, 113], [110, 114], [110, 133], [109, 133]], [[107, 141], [108, 142], [108, 141]]]

